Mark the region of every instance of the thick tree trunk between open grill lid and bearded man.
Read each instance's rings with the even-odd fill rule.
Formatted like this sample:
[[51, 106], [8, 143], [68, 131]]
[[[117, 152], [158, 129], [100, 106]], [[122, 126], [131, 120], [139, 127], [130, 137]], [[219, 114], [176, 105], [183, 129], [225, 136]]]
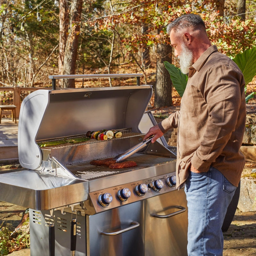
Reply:
[[155, 108], [172, 106], [172, 81], [163, 61], [172, 63], [172, 47], [170, 44], [157, 44], [156, 47], [156, 86]]

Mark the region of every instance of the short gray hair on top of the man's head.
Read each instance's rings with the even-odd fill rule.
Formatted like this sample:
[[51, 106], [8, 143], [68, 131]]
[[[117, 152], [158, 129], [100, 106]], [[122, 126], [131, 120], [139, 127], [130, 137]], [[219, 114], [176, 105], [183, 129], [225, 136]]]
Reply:
[[169, 23], [166, 27], [166, 32], [169, 36], [172, 29], [177, 32], [184, 28], [201, 28], [205, 30], [205, 24], [202, 18], [197, 14], [184, 14]]

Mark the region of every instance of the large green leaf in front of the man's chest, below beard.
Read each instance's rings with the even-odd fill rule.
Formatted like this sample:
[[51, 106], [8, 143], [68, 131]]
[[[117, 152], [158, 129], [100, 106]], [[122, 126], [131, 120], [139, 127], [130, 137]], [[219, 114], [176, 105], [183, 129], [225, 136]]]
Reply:
[[164, 66], [168, 70], [171, 76], [171, 80], [174, 88], [177, 90], [180, 97], [182, 97], [188, 82], [188, 76], [183, 74], [180, 71], [180, 68], [175, 67], [173, 64], [169, 63], [168, 61], [164, 61]]

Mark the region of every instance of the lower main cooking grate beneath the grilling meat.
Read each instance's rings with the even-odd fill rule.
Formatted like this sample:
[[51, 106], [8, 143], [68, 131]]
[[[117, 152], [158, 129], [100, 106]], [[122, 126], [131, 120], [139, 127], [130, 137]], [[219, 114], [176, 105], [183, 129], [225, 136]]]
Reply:
[[74, 164], [66, 164], [65, 167], [72, 172], [77, 178], [82, 180], [93, 180], [100, 177], [107, 177], [120, 172], [130, 172], [136, 169], [142, 169], [163, 164], [166, 162], [175, 161], [170, 157], [145, 155], [136, 153], [128, 158], [129, 161], [135, 161], [137, 166], [124, 169], [110, 169], [106, 166], [95, 166], [90, 164], [90, 161], [79, 162]]

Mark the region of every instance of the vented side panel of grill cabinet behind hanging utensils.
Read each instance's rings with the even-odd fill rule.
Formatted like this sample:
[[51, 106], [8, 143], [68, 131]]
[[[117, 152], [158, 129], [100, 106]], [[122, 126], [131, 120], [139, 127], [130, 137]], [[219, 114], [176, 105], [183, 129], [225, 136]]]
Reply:
[[[49, 223], [54, 223], [55, 256], [70, 255], [71, 213], [54, 211], [53, 215], [54, 218], [49, 211], [29, 209], [31, 256], [49, 256]], [[76, 256], [86, 256], [85, 218], [77, 215], [76, 219]]]

